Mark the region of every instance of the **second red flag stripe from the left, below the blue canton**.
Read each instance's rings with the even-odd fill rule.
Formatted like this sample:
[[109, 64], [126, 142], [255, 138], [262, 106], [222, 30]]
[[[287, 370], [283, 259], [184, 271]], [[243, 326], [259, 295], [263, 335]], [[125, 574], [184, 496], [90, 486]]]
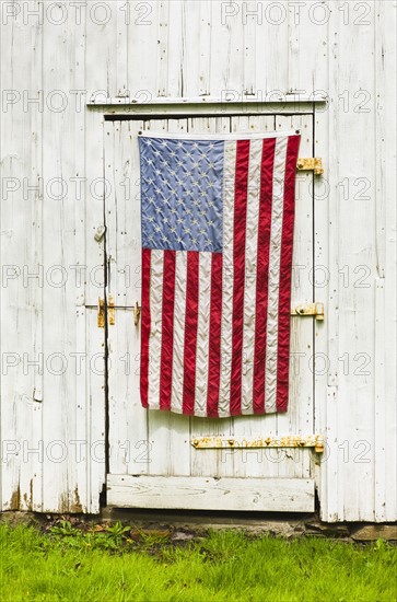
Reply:
[[171, 409], [174, 346], [175, 251], [164, 251], [160, 409]]

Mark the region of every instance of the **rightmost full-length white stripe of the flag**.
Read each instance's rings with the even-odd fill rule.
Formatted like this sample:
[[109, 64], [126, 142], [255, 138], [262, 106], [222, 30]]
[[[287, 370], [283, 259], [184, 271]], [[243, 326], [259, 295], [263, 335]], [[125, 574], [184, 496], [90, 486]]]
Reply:
[[277, 344], [279, 324], [279, 285], [280, 285], [280, 245], [282, 233], [284, 172], [288, 138], [278, 138], [276, 142], [273, 188], [271, 206], [271, 230], [269, 252], [269, 290], [266, 333], [266, 379], [265, 409], [276, 412], [277, 393]]

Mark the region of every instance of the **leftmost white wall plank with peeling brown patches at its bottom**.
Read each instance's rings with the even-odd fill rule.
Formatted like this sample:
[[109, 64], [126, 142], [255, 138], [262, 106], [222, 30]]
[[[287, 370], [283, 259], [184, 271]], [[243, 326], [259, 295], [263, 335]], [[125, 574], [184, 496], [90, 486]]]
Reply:
[[[31, 8], [36, 9], [37, 4], [34, 2]], [[28, 103], [30, 99], [38, 99], [42, 82], [42, 26], [24, 23], [22, 11], [15, 11], [15, 16], [1, 27], [1, 85], [5, 97], [13, 99], [13, 104], [3, 103], [0, 117], [3, 276], [5, 270], [0, 287], [3, 510], [42, 509], [43, 384], [38, 354], [43, 279], [38, 264], [43, 199], [38, 178], [43, 175], [43, 115], [38, 115], [37, 103]], [[20, 48], [25, 53], [21, 54]], [[5, 183], [12, 183], [10, 188]]]

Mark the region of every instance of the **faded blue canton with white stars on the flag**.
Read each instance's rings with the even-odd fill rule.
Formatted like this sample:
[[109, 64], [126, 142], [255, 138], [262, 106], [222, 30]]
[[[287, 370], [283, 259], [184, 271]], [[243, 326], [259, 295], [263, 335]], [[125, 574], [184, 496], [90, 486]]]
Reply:
[[139, 138], [142, 246], [222, 252], [223, 140]]

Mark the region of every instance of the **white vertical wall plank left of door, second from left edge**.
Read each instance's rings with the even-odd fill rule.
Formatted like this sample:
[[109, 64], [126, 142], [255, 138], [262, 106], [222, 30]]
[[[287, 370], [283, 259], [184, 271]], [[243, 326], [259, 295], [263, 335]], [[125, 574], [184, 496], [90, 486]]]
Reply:
[[[43, 288], [43, 313], [51, 320], [43, 333], [45, 354], [43, 440], [46, 463], [43, 470], [43, 510], [81, 511], [77, 489], [77, 462], [70, 441], [75, 439], [77, 350], [75, 303], [78, 290], [75, 266], [75, 188], [72, 178], [82, 169], [81, 153], [65, 152], [83, 144], [81, 119], [70, 101], [69, 91], [80, 85], [79, 71], [84, 70], [81, 43], [84, 22], [74, 26], [67, 2], [52, 9], [52, 19], [61, 14], [62, 24], [44, 21], [44, 82], [46, 109], [43, 129], [43, 256], [47, 275]], [[72, 25], [73, 24], [73, 25]], [[73, 35], [70, 36], [73, 26]], [[57, 94], [52, 96], [54, 91]], [[65, 101], [68, 100], [68, 102]], [[59, 106], [61, 109], [59, 111]], [[80, 259], [83, 259], [81, 257]], [[51, 316], [51, 319], [50, 319]], [[56, 466], [56, 470], [55, 470]], [[82, 498], [85, 491], [82, 491]]]

